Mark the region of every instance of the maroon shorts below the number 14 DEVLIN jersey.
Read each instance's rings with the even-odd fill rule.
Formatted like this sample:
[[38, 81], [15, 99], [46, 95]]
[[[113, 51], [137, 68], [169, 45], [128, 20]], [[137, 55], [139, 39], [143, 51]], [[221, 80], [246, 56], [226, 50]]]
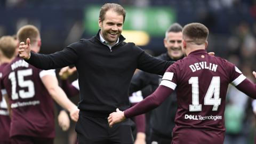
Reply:
[[182, 128], [173, 131], [172, 144], [222, 144], [224, 132], [204, 129]]

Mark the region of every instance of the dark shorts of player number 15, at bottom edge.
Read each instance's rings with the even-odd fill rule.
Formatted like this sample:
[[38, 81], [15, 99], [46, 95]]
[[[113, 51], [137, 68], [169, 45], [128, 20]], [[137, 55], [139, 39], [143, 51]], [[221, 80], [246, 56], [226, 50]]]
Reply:
[[11, 137], [11, 144], [53, 144], [54, 138], [29, 137], [15, 135]]

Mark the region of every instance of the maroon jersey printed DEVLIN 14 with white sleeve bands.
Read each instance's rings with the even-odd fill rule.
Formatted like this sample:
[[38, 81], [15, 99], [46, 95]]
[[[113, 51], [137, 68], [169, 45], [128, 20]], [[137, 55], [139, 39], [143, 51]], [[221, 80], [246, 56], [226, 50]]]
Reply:
[[177, 91], [174, 139], [175, 132], [186, 127], [217, 130], [223, 134], [228, 84], [236, 86], [245, 78], [232, 63], [208, 55], [205, 50], [191, 52], [171, 65], [161, 85]]

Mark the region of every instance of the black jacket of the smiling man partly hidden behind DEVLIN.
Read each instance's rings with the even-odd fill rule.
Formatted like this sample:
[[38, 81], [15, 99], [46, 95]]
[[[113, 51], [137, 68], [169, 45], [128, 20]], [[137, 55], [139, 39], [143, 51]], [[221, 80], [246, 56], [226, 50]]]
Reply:
[[[167, 53], [163, 53], [156, 58], [173, 61]], [[149, 91], [142, 91], [142, 95], [145, 98], [156, 90], [158, 85], [161, 83], [161, 80], [162, 76], [138, 71], [138, 73], [132, 77], [129, 93], [139, 91], [143, 89], [143, 87], [151, 86], [151, 91], [150, 89], [148, 89]], [[153, 133], [157, 134], [159, 137], [171, 139], [172, 129], [175, 126], [174, 118], [176, 111], [177, 98], [174, 92], [159, 107], [151, 111], [150, 129]]]

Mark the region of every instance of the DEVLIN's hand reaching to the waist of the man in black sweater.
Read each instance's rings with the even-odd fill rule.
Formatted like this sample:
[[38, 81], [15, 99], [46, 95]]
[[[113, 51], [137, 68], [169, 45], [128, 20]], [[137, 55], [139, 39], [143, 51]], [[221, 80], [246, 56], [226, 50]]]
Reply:
[[117, 108], [116, 112], [111, 113], [108, 117], [109, 127], [112, 127], [114, 124], [124, 121], [124, 119], [125, 119], [124, 111], [121, 111]]

